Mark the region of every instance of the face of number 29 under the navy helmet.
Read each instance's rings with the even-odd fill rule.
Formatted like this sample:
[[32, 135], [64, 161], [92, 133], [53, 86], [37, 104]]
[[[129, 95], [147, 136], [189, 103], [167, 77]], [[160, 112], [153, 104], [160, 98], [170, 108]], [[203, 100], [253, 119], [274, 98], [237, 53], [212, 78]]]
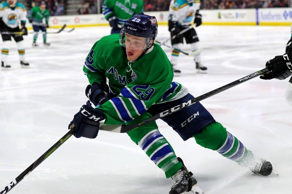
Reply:
[[125, 47], [127, 59], [134, 61], [144, 52], [146, 48], [145, 38], [126, 34]]

